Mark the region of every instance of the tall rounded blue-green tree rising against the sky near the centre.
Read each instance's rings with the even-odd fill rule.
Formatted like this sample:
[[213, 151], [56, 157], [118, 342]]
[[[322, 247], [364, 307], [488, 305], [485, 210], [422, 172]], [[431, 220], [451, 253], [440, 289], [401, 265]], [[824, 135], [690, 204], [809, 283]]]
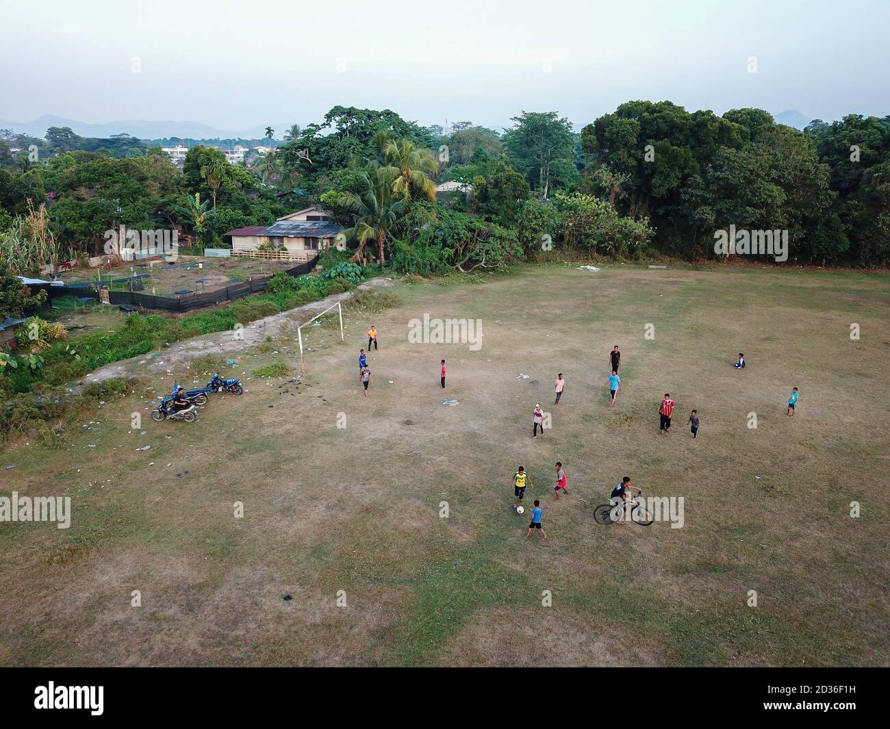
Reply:
[[504, 135], [510, 164], [525, 174], [541, 198], [578, 176], [574, 132], [555, 111], [523, 111]]

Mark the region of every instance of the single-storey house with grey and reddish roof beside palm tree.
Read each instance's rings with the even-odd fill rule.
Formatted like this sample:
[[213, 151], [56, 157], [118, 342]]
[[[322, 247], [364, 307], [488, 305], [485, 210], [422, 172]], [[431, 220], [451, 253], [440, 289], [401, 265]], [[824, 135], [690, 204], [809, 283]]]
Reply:
[[290, 260], [308, 260], [328, 247], [344, 250], [346, 240], [339, 235], [343, 226], [331, 220], [333, 213], [323, 207], [306, 207], [280, 217], [268, 227], [251, 225], [225, 233], [231, 236], [232, 255], [266, 254], [287, 256]]

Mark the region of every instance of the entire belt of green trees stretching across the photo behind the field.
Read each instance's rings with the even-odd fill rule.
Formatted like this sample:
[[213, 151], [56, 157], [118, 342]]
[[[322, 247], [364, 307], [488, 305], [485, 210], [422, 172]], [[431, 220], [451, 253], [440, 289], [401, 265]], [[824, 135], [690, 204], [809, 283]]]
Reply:
[[[576, 134], [556, 112], [523, 111], [498, 132], [337, 106], [288, 128], [283, 143], [273, 134], [276, 149], [251, 167], [198, 145], [182, 170], [128, 135], [0, 134], [0, 243], [95, 253], [105, 231], [125, 224], [175, 226], [219, 246], [225, 231], [322, 202], [353, 258], [406, 271], [554, 251], [707, 258], [715, 232], [731, 225], [787, 230], [792, 262], [890, 263], [890, 117], [816, 120], [799, 132], [762, 109], [718, 116], [630, 101]], [[4, 157], [13, 145], [35, 145], [36, 160]], [[454, 189], [436, 194], [441, 182]]]

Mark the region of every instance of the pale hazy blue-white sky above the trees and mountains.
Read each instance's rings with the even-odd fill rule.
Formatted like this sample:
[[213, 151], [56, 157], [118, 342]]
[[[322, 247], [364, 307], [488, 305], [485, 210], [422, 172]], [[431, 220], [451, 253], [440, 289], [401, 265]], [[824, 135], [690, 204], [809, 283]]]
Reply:
[[0, 0], [0, 118], [280, 135], [336, 104], [495, 128], [634, 99], [884, 116], [888, 19], [888, 0]]

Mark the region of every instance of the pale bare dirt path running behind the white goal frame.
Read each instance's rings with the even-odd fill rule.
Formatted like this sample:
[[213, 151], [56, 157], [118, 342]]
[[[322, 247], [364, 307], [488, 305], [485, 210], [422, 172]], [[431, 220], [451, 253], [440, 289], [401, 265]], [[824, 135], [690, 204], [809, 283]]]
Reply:
[[[371, 279], [361, 284], [359, 288], [361, 290], [373, 291], [378, 288], [392, 286], [394, 283], [395, 281], [391, 278]], [[328, 306], [332, 306], [338, 301], [344, 301], [344, 299], [348, 299], [350, 296], [352, 296], [350, 291], [344, 294], [335, 294], [312, 304], [306, 304], [296, 309], [289, 309], [287, 312], [252, 321], [245, 325], [242, 330], [243, 336], [240, 339], [232, 336], [231, 330], [196, 336], [192, 339], [183, 339], [182, 342], [172, 344], [169, 349], [149, 352], [130, 360], [113, 362], [105, 367], [96, 369], [89, 373], [84, 378], [84, 381], [101, 382], [112, 377], [137, 377], [144, 374], [146, 365], [150, 367], [163, 366], [166, 369], [173, 370], [175, 368], [187, 367], [190, 360], [197, 359], [210, 352], [215, 354], [240, 352], [246, 347], [260, 344], [266, 336], [276, 336], [284, 322], [287, 322], [290, 326], [300, 325], [312, 319], [316, 314], [323, 312]]]

